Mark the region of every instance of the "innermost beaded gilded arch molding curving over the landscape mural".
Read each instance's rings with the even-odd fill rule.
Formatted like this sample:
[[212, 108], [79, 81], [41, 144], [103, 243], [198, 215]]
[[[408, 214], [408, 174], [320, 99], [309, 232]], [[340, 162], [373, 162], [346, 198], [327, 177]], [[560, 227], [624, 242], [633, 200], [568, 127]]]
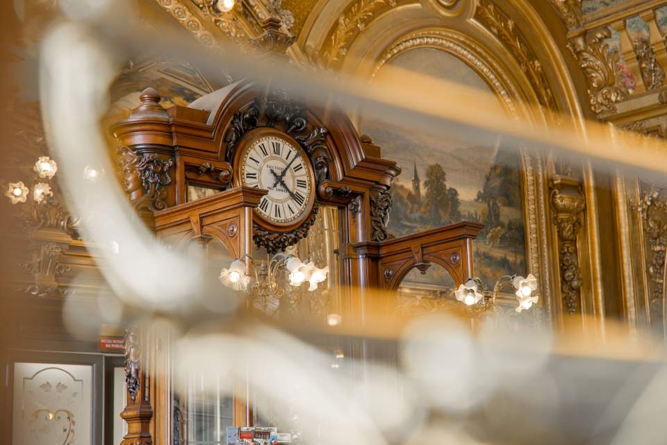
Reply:
[[406, 35], [406, 37], [398, 40], [398, 42], [384, 52], [375, 64], [371, 78], [374, 78], [387, 62], [399, 54], [419, 47], [440, 49], [441, 51], [451, 53], [456, 58], [464, 60], [500, 96], [503, 105], [509, 110], [510, 114], [513, 116], [519, 115], [516, 103], [512, 99], [518, 96], [518, 92], [508, 78], [498, 78], [496, 73], [502, 73], [500, 67], [497, 66], [492, 58], [479, 56], [484, 53], [484, 50], [472, 42], [472, 40], [465, 35], [460, 35], [452, 31], [427, 30]]

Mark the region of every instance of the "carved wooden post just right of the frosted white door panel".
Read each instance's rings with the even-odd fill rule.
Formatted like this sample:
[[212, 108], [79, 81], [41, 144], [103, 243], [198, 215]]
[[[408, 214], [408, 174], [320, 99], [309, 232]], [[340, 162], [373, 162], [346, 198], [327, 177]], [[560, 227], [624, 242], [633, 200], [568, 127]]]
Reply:
[[[146, 351], [147, 352], [147, 351]], [[142, 351], [140, 333], [136, 328], [125, 331], [126, 406], [120, 417], [127, 423], [127, 434], [121, 445], [152, 445], [149, 376], [145, 364], [147, 353]]]

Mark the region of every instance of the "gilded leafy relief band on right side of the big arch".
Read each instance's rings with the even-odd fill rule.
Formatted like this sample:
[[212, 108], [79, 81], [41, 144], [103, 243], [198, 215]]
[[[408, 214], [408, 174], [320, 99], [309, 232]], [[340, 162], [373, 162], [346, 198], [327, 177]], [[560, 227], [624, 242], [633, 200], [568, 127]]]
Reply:
[[519, 31], [513, 19], [497, 9], [488, 0], [479, 1], [477, 10], [475, 10], [475, 17], [509, 48], [522, 72], [526, 74], [533, 86], [539, 103], [549, 110], [557, 110], [558, 106], [554, 93], [544, 74], [542, 64], [529, 47], [526, 38]]

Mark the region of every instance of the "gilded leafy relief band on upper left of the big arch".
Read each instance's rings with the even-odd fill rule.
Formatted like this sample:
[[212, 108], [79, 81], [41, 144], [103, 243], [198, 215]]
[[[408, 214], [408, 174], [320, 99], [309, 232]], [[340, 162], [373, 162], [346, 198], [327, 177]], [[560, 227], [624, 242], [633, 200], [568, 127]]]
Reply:
[[336, 29], [331, 34], [331, 44], [322, 53], [324, 65], [331, 66], [340, 62], [354, 37], [361, 33], [379, 12], [394, 8], [396, 4], [395, 0], [359, 0], [352, 3], [352, 6], [338, 17]]

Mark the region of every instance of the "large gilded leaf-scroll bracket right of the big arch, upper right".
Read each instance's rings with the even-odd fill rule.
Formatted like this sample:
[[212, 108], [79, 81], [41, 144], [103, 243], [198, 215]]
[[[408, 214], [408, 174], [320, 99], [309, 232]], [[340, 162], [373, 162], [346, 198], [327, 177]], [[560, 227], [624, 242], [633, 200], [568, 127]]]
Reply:
[[616, 75], [618, 52], [609, 51], [609, 44], [604, 43], [610, 36], [609, 29], [600, 28], [568, 43], [568, 49], [586, 76], [591, 110], [596, 113], [616, 112], [616, 103], [628, 96]]

